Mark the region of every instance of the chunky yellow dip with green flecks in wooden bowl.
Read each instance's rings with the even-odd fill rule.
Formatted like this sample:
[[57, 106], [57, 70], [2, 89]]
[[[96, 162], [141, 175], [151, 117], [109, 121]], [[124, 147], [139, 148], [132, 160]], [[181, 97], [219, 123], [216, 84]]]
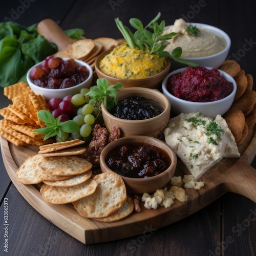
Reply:
[[121, 79], [141, 79], [156, 75], [167, 66], [165, 58], [146, 51], [121, 45], [99, 61], [99, 69], [106, 75]]

